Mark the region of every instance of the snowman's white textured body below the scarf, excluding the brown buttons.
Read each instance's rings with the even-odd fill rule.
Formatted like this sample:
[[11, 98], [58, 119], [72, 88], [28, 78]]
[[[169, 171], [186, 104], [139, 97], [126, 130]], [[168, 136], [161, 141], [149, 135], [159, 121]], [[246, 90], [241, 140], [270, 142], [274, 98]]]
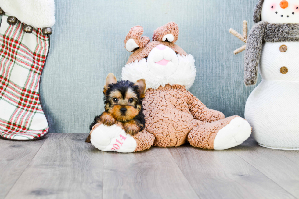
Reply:
[[245, 106], [255, 140], [264, 147], [299, 150], [299, 42], [264, 43], [258, 70], [263, 80]]

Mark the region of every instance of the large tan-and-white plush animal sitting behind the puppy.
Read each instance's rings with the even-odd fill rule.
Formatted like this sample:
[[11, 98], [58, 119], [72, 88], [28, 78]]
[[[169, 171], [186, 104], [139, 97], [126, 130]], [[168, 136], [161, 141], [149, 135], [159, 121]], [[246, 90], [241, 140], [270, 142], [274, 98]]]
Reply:
[[122, 79], [146, 80], [143, 100], [146, 127], [134, 136], [116, 123], [97, 123], [91, 130], [91, 143], [102, 151], [136, 152], [157, 147], [177, 147], [186, 142], [203, 149], [235, 147], [251, 134], [249, 123], [239, 117], [225, 118], [222, 112], [207, 108], [188, 89], [196, 67], [192, 55], [175, 44], [179, 29], [174, 22], [157, 28], [150, 41], [143, 27], [132, 27], [124, 44], [133, 52], [122, 69]]

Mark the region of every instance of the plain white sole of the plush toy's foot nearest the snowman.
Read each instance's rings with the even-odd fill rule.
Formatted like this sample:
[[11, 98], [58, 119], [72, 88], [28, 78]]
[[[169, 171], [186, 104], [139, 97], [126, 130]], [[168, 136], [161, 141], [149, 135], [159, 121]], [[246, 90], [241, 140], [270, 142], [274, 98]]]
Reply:
[[247, 140], [250, 134], [249, 123], [241, 117], [236, 117], [218, 131], [214, 140], [214, 149], [223, 150], [238, 146]]

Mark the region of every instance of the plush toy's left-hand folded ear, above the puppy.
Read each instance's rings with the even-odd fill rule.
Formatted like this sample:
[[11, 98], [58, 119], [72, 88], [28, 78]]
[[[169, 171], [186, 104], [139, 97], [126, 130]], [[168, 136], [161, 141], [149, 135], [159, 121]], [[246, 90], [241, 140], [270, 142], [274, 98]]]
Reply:
[[132, 52], [135, 48], [143, 48], [147, 43], [150, 42], [150, 38], [143, 36], [143, 27], [134, 26], [131, 28], [129, 33], [124, 40], [124, 47], [127, 51]]

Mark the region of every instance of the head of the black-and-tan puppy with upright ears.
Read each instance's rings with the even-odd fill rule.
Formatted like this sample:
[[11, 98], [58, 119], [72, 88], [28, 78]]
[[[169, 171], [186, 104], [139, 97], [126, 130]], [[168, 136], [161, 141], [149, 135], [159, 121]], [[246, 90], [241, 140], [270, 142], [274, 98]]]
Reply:
[[144, 79], [135, 82], [117, 81], [113, 73], [109, 73], [104, 86], [105, 111], [117, 121], [125, 122], [133, 119], [142, 109], [145, 96]]

